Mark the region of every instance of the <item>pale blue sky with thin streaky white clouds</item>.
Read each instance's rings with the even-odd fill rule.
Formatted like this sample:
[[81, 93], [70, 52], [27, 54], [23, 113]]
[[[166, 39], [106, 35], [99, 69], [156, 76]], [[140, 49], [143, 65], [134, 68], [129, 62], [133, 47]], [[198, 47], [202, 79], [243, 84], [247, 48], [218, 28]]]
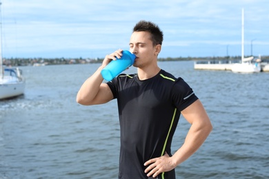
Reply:
[[103, 58], [129, 50], [132, 28], [163, 31], [160, 58], [269, 55], [268, 0], [1, 0], [5, 58]]

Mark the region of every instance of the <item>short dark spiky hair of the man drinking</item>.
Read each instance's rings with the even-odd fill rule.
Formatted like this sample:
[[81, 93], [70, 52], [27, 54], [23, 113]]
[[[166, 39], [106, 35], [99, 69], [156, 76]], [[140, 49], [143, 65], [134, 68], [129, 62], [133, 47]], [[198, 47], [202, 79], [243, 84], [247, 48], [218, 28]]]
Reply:
[[151, 21], [139, 21], [135, 25], [133, 32], [142, 31], [150, 32], [153, 45], [161, 45], [163, 43], [163, 32], [155, 23], [152, 23]]

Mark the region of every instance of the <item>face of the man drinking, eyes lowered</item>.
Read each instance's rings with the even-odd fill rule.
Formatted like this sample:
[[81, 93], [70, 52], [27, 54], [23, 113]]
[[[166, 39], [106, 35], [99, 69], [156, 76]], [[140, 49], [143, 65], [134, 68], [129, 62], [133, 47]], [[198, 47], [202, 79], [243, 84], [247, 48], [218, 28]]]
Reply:
[[133, 32], [130, 38], [130, 52], [137, 56], [133, 65], [142, 68], [157, 63], [159, 54], [157, 46], [153, 46], [150, 32]]

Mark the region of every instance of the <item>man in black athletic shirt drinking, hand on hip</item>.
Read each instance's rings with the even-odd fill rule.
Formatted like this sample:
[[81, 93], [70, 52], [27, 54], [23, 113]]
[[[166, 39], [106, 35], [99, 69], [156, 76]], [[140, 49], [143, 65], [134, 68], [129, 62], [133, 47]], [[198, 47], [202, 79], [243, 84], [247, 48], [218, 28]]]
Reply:
[[[108, 103], [117, 98], [121, 128], [119, 178], [175, 178], [175, 167], [206, 140], [212, 125], [203, 105], [182, 78], [161, 70], [163, 32], [155, 23], [139, 21], [130, 37], [137, 74], [120, 74], [102, 83], [101, 70], [121, 58], [122, 50], [107, 55], [77, 94], [81, 105]], [[171, 154], [179, 116], [191, 124], [185, 143]]]

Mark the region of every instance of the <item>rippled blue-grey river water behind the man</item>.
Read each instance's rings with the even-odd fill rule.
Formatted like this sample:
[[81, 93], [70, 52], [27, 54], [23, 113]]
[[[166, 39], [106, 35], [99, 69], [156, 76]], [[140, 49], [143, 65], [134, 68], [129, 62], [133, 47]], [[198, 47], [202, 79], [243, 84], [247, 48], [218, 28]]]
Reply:
[[[76, 95], [100, 64], [22, 67], [24, 96], [0, 101], [0, 178], [117, 178], [117, 103], [82, 106]], [[205, 106], [212, 133], [177, 178], [269, 178], [269, 74], [199, 71], [159, 62]], [[128, 73], [135, 72], [131, 67]], [[176, 151], [190, 125], [181, 117]]]

